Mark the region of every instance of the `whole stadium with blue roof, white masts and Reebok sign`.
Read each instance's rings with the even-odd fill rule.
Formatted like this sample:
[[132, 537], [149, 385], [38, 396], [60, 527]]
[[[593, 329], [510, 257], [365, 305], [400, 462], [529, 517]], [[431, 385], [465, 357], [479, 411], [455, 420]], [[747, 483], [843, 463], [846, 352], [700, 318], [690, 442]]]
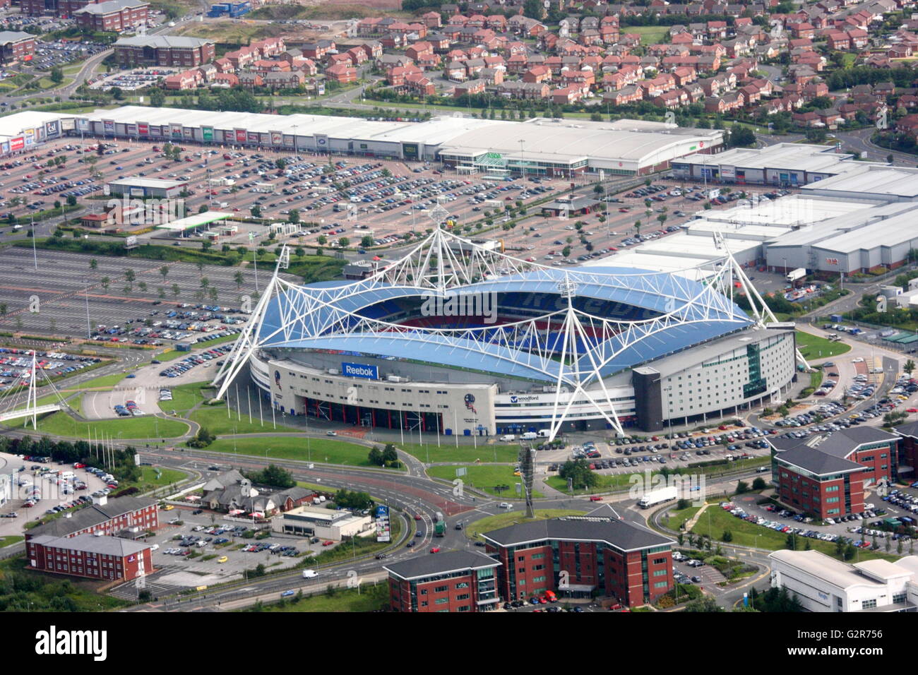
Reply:
[[223, 397], [248, 366], [277, 411], [419, 435], [621, 434], [731, 415], [789, 386], [794, 332], [733, 302], [734, 287], [761, 298], [729, 254], [712, 266], [704, 282], [562, 270], [437, 229], [360, 281], [275, 272], [214, 384]]

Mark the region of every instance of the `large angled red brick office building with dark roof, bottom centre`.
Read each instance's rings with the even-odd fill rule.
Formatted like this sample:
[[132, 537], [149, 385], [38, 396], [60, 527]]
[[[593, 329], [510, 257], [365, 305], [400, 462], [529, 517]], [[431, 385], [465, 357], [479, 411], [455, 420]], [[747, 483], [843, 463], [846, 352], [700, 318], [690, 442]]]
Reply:
[[673, 588], [673, 540], [615, 518], [565, 516], [482, 534], [497, 557], [499, 592], [525, 600], [599, 594], [636, 606]]

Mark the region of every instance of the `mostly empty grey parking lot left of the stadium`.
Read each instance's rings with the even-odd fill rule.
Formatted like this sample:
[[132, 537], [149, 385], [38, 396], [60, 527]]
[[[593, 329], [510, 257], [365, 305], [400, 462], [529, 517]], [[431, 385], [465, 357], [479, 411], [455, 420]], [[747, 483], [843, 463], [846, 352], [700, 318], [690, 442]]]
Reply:
[[[0, 295], [7, 312], [0, 316], [0, 330], [7, 332], [76, 337], [91, 332], [111, 343], [187, 342], [238, 332], [247, 319], [241, 297], [256, 292], [254, 272], [239, 267], [208, 265], [202, 275], [194, 264], [45, 250], [36, 254], [36, 271], [31, 255], [22, 252], [0, 249]], [[259, 289], [266, 280], [259, 280]]]

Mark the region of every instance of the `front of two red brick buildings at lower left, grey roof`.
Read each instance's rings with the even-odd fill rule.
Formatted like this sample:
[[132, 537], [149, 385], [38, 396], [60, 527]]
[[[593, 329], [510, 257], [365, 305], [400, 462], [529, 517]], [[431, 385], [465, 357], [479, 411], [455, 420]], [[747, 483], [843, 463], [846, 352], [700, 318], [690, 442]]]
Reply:
[[149, 545], [94, 534], [34, 536], [26, 557], [28, 568], [86, 579], [129, 581], [153, 568]]

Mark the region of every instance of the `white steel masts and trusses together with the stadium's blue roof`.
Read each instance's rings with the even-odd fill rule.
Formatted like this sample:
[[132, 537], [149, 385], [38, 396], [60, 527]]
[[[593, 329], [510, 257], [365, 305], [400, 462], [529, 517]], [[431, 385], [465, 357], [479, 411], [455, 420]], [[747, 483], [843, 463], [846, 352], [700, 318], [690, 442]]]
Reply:
[[[753, 323], [764, 326], [767, 319], [776, 321], [722, 237], [715, 235], [715, 241], [724, 257], [712, 264], [711, 276], [700, 284], [688, 276], [621, 268], [560, 270], [500, 253], [439, 227], [399, 260], [350, 284], [299, 286], [278, 276], [278, 264], [245, 330], [218, 370], [214, 386], [222, 398], [252, 354], [267, 346], [297, 347], [304, 340], [361, 336], [378, 343], [379, 354], [387, 355], [385, 343], [394, 339], [439, 343], [451, 351], [488, 354], [508, 367], [523, 366], [533, 379], [554, 382], [551, 438], [574, 402], [584, 399], [621, 434], [604, 378], [633, 365], [617, 360], [626, 350], [677, 326], [720, 322], [726, 332], [749, 326], [750, 318], [733, 305], [734, 281], [749, 298]], [[525, 287], [519, 286], [521, 281]], [[585, 286], [618, 289], [623, 292], [622, 303], [629, 296], [639, 303], [649, 295], [660, 298], [663, 306], [638, 320], [598, 316], [575, 306], [577, 289]], [[404, 325], [362, 313], [390, 298], [513, 290], [550, 292], [565, 298], [566, 307], [499, 325], [455, 328]], [[371, 353], [364, 347], [361, 350]], [[798, 358], [802, 359], [799, 353]]]

